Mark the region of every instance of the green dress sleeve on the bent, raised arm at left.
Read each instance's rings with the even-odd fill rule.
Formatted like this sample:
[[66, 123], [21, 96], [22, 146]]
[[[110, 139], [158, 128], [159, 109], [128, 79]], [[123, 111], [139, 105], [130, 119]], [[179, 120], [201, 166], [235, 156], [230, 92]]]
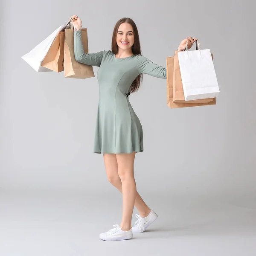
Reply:
[[90, 66], [99, 67], [104, 51], [96, 53], [84, 53], [81, 30], [74, 31], [74, 53], [76, 61]]

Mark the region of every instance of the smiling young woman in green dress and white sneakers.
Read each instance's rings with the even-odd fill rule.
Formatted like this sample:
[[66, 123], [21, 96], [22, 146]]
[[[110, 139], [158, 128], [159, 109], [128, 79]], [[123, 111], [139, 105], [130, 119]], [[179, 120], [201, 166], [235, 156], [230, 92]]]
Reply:
[[[131, 239], [133, 232], [143, 232], [157, 214], [140, 197], [134, 180], [134, 158], [143, 151], [143, 129], [128, 100], [142, 81], [142, 74], [166, 79], [166, 68], [141, 55], [137, 26], [130, 18], [117, 21], [112, 37], [112, 49], [84, 53], [81, 41], [81, 19], [70, 17], [75, 27], [74, 52], [76, 61], [99, 67], [99, 105], [96, 118], [94, 152], [103, 154], [108, 180], [122, 193], [123, 213], [120, 225], [100, 234], [106, 241]], [[197, 39], [187, 37], [177, 50], [192, 47]], [[131, 218], [135, 207], [138, 220], [134, 227]]]

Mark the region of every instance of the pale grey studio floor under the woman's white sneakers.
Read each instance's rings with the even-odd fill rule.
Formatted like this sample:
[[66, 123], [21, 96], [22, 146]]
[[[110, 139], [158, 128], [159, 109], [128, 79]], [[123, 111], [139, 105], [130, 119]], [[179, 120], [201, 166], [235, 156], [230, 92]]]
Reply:
[[253, 199], [146, 198], [157, 221], [131, 240], [109, 242], [100, 240], [99, 233], [120, 224], [118, 191], [1, 192], [0, 256], [256, 255]]

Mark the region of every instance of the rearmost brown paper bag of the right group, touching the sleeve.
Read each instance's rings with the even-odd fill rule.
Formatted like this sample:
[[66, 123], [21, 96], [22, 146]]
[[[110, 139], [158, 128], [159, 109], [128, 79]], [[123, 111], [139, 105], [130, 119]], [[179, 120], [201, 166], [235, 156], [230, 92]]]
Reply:
[[206, 105], [216, 105], [216, 98], [213, 98], [208, 103], [177, 103], [173, 102], [173, 74], [174, 74], [174, 57], [166, 58], [166, 84], [167, 84], [167, 105], [169, 108], [186, 108], [186, 107], [197, 107]]

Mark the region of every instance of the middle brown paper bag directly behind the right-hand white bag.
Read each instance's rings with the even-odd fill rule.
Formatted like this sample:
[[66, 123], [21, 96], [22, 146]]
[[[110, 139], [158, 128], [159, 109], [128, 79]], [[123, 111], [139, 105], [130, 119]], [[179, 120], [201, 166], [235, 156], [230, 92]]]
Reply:
[[175, 51], [174, 55], [174, 73], [173, 73], [173, 102], [176, 103], [209, 103], [213, 101], [213, 98], [210, 99], [196, 99], [186, 101], [184, 97], [183, 85], [180, 75], [180, 66], [179, 66], [179, 58], [178, 51]]

